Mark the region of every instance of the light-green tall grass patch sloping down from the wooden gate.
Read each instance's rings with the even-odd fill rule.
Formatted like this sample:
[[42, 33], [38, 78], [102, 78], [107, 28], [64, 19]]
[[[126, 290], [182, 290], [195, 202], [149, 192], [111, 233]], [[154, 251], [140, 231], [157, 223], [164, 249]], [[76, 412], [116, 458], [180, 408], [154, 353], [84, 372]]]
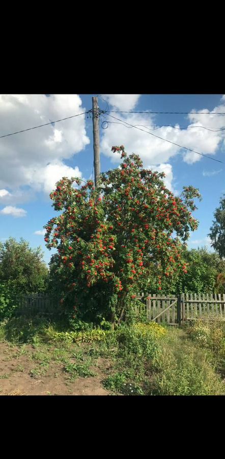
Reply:
[[224, 383], [216, 372], [212, 353], [190, 342], [181, 330], [169, 330], [160, 351], [155, 371], [147, 382], [149, 394], [224, 394]]

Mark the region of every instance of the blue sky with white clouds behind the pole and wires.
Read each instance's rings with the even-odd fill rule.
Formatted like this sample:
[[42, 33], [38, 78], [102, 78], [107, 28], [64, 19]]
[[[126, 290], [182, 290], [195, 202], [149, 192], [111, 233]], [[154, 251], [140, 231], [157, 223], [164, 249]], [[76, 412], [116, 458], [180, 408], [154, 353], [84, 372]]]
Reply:
[[[85, 112], [92, 108], [92, 95], [96, 94], [0, 95], [0, 135]], [[108, 107], [102, 98], [107, 100]], [[225, 131], [215, 132], [225, 126], [225, 115], [208, 114], [225, 112], [222, 94], [104, 94], [102, 98], [99, 97], [102, 110], [204, 111], [204, 115], [111, 115], [125, 123], [147, 126], [141, 129], [225, 162]], [[112, 145], [124, 144], [127, 152], [140, 155], [145, 167], [163, 170], [166, 185], [175, 194], [180, 194], [184, 185], [199, 188], [203, 200], [194, 216], [200, 225], [198, 231], [191, 234], [188, 245], [210, 247], [207, 234], [213, 212], [225, 193], [224, 164], [187, 152], [133, 127], [128, 129], [121, 121], [104, 116], [100, 122], [101, 171], [119, 165], [119, 158], [112, 156], [110, 149]], [[103, 130], [101, 123], [106, 120], [111, 122]], [[183, 126], [189, 127], [176, 129]], [[62, 176], [79, 175], [88, 179], [92, 175], [92, 119], [82, 115], [2, 138], [0, 158], [0, 240], [23, 237], [32, 247], [40, 245], [48, 263], [53, 252], [46, 249], [44, 236], [35, 233], [42, 231], [43, 225], [55, 215], [49, 198], [54, 183]]]

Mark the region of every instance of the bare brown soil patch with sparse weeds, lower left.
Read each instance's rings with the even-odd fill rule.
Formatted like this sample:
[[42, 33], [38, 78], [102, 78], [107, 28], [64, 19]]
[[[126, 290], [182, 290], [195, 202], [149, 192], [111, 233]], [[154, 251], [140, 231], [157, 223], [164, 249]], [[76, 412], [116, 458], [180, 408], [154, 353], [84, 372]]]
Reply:
[[65, 371], [65, 367], [77, 363], [74, 350], [76, 346], [65, 349], [58, 345], [49, 348], [0, 343], [0, 395], [110, 395], [101, 382], [110, 362], [92, 359], [89, 369], [95, 376], [74, 377]]

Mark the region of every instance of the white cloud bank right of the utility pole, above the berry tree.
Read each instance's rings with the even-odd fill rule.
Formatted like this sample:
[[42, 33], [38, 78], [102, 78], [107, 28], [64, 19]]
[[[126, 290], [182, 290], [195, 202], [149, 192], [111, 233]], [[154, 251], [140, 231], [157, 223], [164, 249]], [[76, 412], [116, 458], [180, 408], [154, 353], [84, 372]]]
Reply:
[[[215, 107], [213, 112], [225, 111], [225, 99], [222, 98], [221, 105]], [[209, 110], [202, 109], [200, 112], [209, 113]], [[120, 155], [113, 154], [111, 146], [125, 145], [126, 151], [139, 154], [144, 162], [144, 166], [148, 164], [157, 165], [160, 163], [167, 163], [171, 158], [179, 153], [183, 153], [183, 160], [188, 164], [193, 164], [196, 161], [203, 160], [201, 155], [195, 154], [191, 151], [186, 151], [181, 147], [174, 145], [163, 139], [177, 143], [187, 148], [199, 151], [205, 155], [213, 156], [216, 154], [218, 147], [222, 141], [225, 141], [225, 131], [212, 132], [202, 129], [202, 127], [193, 126], [208, 126], [210, 129], [223, 127], [225, 123], [225, 115], [213, 114], [190, 114], [188, 115], [189, 126], [188, 129], [176, 129], [171, 126], [157, 126], [155, 117], [151, 114], [112, 114], [119, 118], [124, 123], [136, 125], [139, 129], [146, 132], [139, 131], [135, 127], [124, 125], [120, 120], [106, 116], [105, 120], [109, 122], [108, 128], [103, 131], [101, 139], [101, 151], [104, 155], [111, 158], [112, 162], [119, 163]], [[154, 126], [153, 126], [154, 124]], [[144, 127], [147, 126], [147, 127]], [[153, 130], [150, 131], [150, 129]], [[155, 129], [157, 128], [157, 129]], [[153, 135], [151, 135], [153, 134]]]

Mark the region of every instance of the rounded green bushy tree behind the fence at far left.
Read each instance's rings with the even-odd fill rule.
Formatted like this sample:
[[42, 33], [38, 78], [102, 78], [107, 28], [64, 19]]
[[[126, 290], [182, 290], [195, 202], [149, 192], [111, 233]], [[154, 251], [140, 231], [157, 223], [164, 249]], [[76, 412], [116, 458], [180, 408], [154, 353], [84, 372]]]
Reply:
[[9, 316], [21, 294], [45, 289], [48, 268], [41, 248], [32, 249], [22, 238], [0, 244], [0, 316]]

